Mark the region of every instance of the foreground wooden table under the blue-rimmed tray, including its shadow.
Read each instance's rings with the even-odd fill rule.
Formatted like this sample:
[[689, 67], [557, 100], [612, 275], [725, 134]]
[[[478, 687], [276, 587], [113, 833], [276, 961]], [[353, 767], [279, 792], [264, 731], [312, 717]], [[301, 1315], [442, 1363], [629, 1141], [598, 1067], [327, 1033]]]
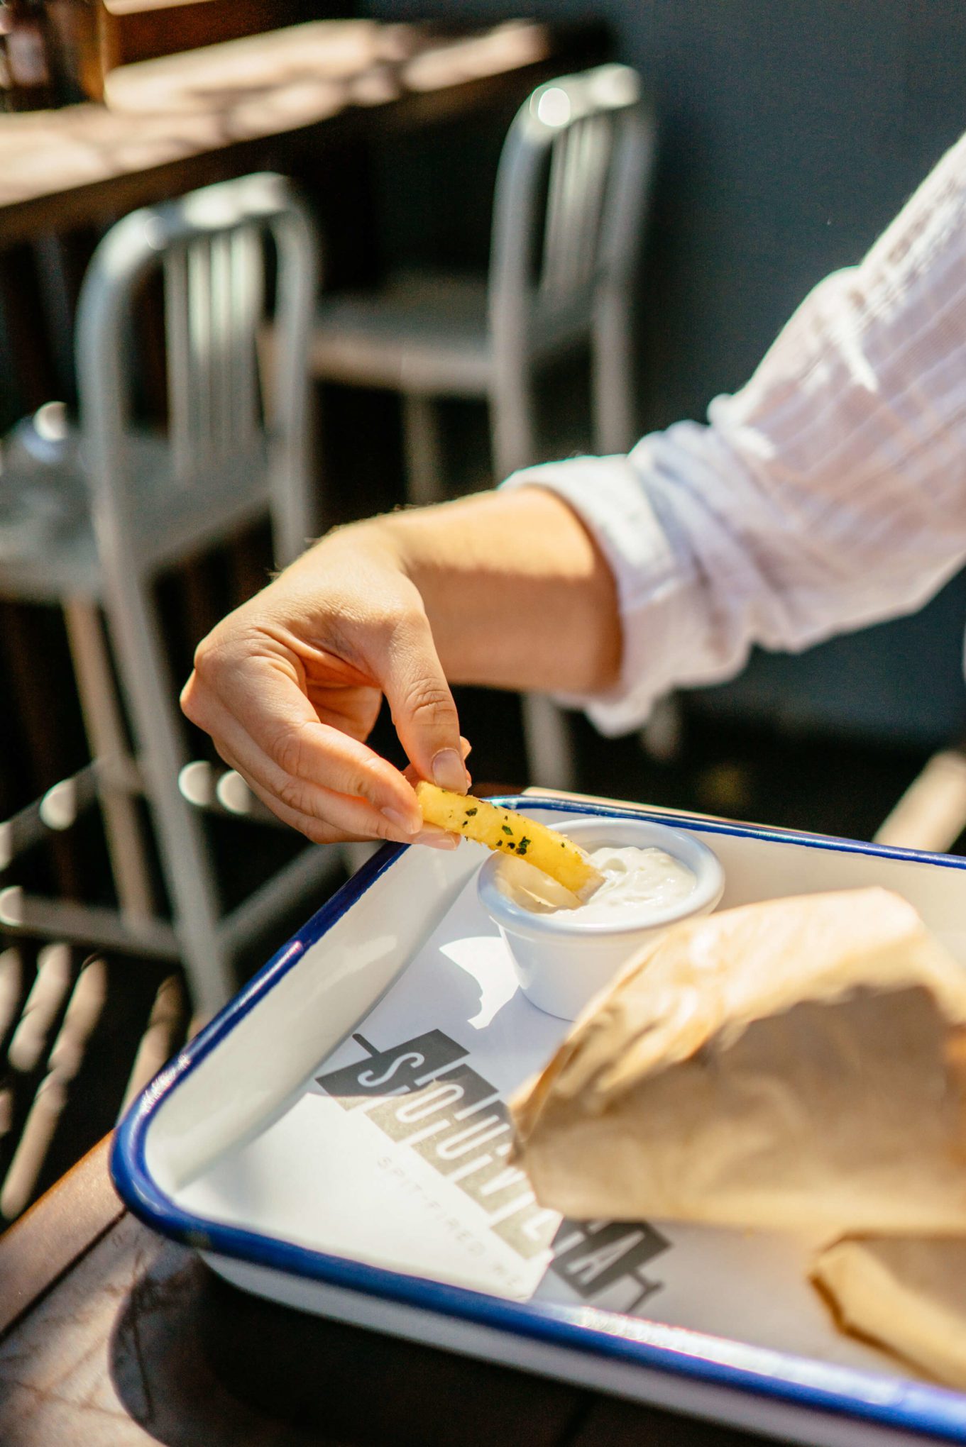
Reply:
[[107, 1152], [0, 1237], [4, 1447], [760, 1443], [246, 1297], [123, 1210]]

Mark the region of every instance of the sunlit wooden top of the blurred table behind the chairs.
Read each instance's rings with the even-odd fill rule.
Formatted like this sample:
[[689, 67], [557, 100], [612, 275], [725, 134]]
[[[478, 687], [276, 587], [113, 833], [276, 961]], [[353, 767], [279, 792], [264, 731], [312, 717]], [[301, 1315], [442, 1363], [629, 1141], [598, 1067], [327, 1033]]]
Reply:
[[266, 166], [371, 127], [521, 98], [556, 64], [595, 59], [600, 27], [316, 20], [120, 67], [106, 106], [0, 116], [0, 246]]

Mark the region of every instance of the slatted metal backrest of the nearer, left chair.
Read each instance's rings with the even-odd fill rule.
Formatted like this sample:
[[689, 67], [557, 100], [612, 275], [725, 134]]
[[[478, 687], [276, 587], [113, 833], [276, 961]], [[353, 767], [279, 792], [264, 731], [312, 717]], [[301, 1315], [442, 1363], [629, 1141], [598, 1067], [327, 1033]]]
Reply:
[[[275, 324], [264, 388], [268, 239], [277, 256]], [[271, 174], [133, 211], [101, 240], [81, 288], [77, 373], [103, 561], [120, 550], [136, 564], [130, 553], [145, 537], [146, 515], [154, 530], [171, 528], [174, 546], [178, 538], [188, 546], [193, 527], [230, 512], [232, 492], [239, 509], [259, 498], [269, 505], [280, 563], [304, 547], [313, 531], [307, 349], [317, 255], [306, 208]], [[130, 344], [152, 273], [164, 288], [168, 431], [165, 498], [146, 499], [136, 476], [143, 454], [132, 425]]]

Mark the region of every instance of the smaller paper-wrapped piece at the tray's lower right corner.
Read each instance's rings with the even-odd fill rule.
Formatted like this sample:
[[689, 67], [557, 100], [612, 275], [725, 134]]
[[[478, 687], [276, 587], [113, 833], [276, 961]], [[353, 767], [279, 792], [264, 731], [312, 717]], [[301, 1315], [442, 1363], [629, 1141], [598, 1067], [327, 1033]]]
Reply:
[[812, 1281], [846, 1331], [966, 1391], [966, 1240], [836, 1242]]

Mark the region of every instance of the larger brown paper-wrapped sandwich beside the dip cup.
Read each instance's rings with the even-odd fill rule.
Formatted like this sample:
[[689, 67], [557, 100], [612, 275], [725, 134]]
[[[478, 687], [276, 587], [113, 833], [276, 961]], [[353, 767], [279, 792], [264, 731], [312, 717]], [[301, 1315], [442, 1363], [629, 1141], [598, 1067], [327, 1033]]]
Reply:
[[966, 1234], [966, 971], [886, 890], [675, 926], [513, 1101], [542, 1204]]

